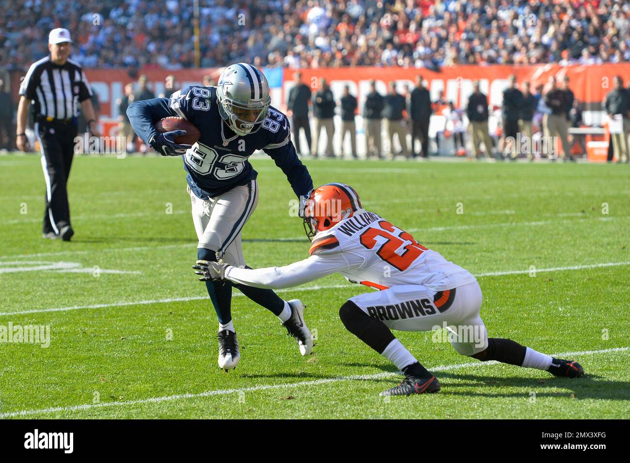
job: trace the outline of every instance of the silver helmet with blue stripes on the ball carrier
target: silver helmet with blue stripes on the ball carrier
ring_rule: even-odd
[[[253,134],[268,115],[272,98],[262,72],[246,63],[232,64],[219,76],[219,114],[237,135]]]

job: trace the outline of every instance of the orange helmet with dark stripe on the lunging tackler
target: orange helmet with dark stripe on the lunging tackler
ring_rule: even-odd
[[[304,203],[304,231],[312,241],[321,231],[363,209],[357,191],[345,183],[326,183],[309,193]]]

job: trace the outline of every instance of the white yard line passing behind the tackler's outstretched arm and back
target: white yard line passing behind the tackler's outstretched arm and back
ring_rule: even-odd
[[[600,267],[612,267],[619,265],[630,265],[630,261],[626,262],[605,262],[598,264],[588,264],[588,265],[573,265],[567,267],[553,267],[553,268],[536,268],[536,273],[539,272],[563,272],[564,270],[583,270],[586,268],[600,268]],[[530,273],[532,270],[508,270],[507,272],[488,272],[488,273],[477,273],[474,275],[475,277],[501,277],[503,275],[519,275]],[[297,288],[287,288],[287,289],[279,289],[276,292],[291,292],[291,291],[311,291],[311,290],[320,290],[320,289],[338,289],[338,288],[355,288],[355,285],[322,285],[322,286],[306,286],[306,287],[297,287]],[[242,296],[242,293],[235,293],[234,296]],[[50,309],[32,309],[29,311],[19,311],[19,312],[1,312],[0,316],[11,316],[11,315],[23,315],[23,314],[37,314],[41,312],[66,312],[66,311],[76,311],[81,309],[103,309],[106,307],[124,307],[124,306],[142,306],[147,304],[168,304],[169,302],[186,302],[188,300],[202,300],[208,299],[207,296],[193,296],[193,297],[169,297],[166,299],[149,299],[149,300],[136,300],[130,302],[112,302],[108,304],[91,304],[89,306],[71,306],[71,307],[55,307]]]

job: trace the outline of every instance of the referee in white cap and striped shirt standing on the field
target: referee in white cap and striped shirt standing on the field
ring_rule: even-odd
[[[67,29],[50,31],[50,55],[34,62],[20,86],[18,129],[16,144],[21,151],[29,151],[26,139],[26,116],[32,105],[35,117],[35,136],[42,151],[43,176],[46,181],[46,210],[43,234],[47,239],[70,241],[74,231],[70,224],[70,209],[66,190],[74,137],[77,136],[77,102],[88,121],[90,133],[100,137],[89,100],[92,91],[81,66],[68,59],[72,40]]]

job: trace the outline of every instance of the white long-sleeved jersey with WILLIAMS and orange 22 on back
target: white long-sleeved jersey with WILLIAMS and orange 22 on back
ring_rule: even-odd
[[[309,258],[284,267],[230,267],[226,278],[260,288],[288,288],[339,272],[350,282],[377,289],[423,285],[435,292],[476,281],[464,268],[364,209],[319,232],[309,254]]]

